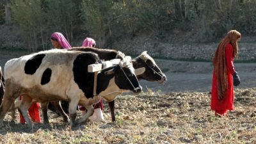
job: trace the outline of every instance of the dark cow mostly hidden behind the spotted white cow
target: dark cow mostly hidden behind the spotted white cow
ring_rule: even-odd
[[[84,51],[84,52],[95,52],[99,55],[99,58],[101,60],[113,60],[114,58],[120,58],[120,54],[118,51],[115,51],[113,49],[95,49],[92,47],[74,47],[72,49],[68,49],[68,51]],[[138,79],[145,79],[147,81],[158,81],[159,83],[164,83],[167,81],[167,78],[165,74],[161,71],[161,69],[157,66],[154,59],[147,54],[147,51],[141,52],[140,56],[134,58],[132,60],[132,65],[135,69],[138,68],[145,68],[145,72],[137,75]],[[111,95],[106,99],[109,104],[109,109],[111,111],[111,118],[112,121],[115,121],[115,97],[120,93],[115,93],[115,95]],[[56,109],[59,109],[60,111],[60,105],[58,103],[53,104]],[[44,106],[42,106],[44,107]],[[68,106],[64,106],[63,109],[67,109]],[[47,109],[47,108],[42,108]],[[61,111],[60,111],[61,112]],[[63,116],[64,114],[61,114]],[[47,118],[47,112],[43,111],[44,121],[48,122]],[[64,115],[64,120],[65,118]]]

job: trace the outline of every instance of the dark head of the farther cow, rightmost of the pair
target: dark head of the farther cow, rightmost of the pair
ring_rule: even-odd
[[[132,65],[135,69],[145,68],[145,72],[137,76],[138,79],[158,81],[159,83],[164,83],[167,81],[167,77],[156,65],[154,59],[147,54],[147,51],[142,52],[140,56],[134,58],[132,60]]]

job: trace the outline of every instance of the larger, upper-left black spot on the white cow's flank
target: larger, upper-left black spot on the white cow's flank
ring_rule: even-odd
[[[30,58],[25,65],[25,74],[35,74],[38,67],[40,67],[45,54],[37,54]]]

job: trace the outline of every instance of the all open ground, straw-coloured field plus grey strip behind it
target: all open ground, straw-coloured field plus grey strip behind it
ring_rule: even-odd
[[[52,112],[49,125],[35,124],[33,130],[19,124],[16,113],[15,124],[5,116],[1,143],[256,143],[256,63],[235,63],[241,78],[235,111],[219,118],[210,110],[211,63],[156,62],[168,83],[141,81],[143,93],[120,95],[116,122],[111,122],[107,104],[105,122],[88,122],[73,131]]]

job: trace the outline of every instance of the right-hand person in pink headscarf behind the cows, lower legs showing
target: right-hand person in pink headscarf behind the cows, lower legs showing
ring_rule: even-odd
[[[96,45],[95,40],[93,40],[92,38],[85,38],[82,44],[82,47],[95,47],[95,45]],[[100,102],[95,104],[93,107],[94,107],[94,113],[92,116],[89,117],[89,119],[92,120],[93,122],[99,122],[101,120],[104,120],[104,116],[102,113],[102,110],[103,110],[102,99],[100,99]],[[79,109],[82,111],[82,113],[84,113],[84,111],[86,110],[83,106],[80,106]]]

